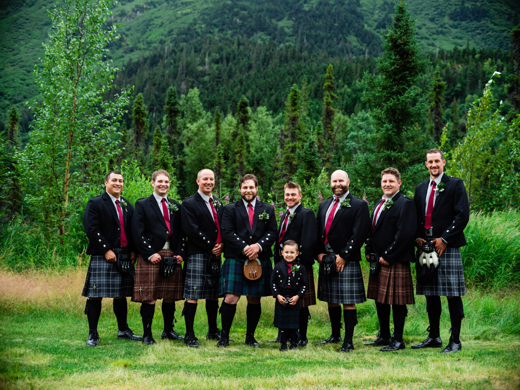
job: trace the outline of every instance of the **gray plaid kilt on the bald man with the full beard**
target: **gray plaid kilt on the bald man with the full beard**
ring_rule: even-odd
[[[323,275],[320,265],[318,299],[328,303],[354,304],[367,300],[359,262],[345,264],[343,271]]]

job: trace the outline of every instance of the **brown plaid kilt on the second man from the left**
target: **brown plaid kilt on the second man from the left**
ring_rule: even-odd
[[[170,249],[161,249],[158,252],[161,256],[173,256]],[[141,289],[142,290],[139,290]],[[152,264],[147,259],[139,255],[135,265],[135,284],[132,294],[133,302],[153,301],[160,299],[170,299],[175,301],[183,300],[184,280],[183,267],[177,264],[172,276],[166,278],[159,275],[159,263]]]

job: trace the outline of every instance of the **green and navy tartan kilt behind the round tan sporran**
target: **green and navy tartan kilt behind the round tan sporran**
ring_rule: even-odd
[[[244,276],[244,262],[227,257],[220,272],[218,293],[224,296],[232,293],[245,296],[272,296],[269,286],[272,263],[269,257],[260,258],[262,276],[257,280],[248,280]]]

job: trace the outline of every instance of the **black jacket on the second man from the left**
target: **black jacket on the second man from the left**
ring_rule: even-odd
[[[170,239],[170,249],[174,255],[182,256],[186,259],[186,236],[180,225],[181,205],[179,202],[167,198],[179,209],[170,212],[170,227],[172,229]],[[148,198],[139,199],[135,202],[134,217],[132,219],[132,234],[135,237],[137,252],[147,259],[154,253],[159,253],[163,249],[168,239],[168,228],[164,222],[162,210],[159,208],[153,194]]]

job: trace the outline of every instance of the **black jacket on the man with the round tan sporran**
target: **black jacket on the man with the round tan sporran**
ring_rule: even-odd
[[[264,212],[269,215],[269,218],[259,219],[258,216]],[[224,207],[220,231],[226,244],[224,257],[245,261],[248,258],[242,253],[245,246],[258,243],[262,246],[262,252],[258,253],[258,257],[270,258],[272,257],[271,246],[278,237],[275,208],[256,200],[253,229],[251,229],[248,211],[245,210],[242,199],[239,199]]]

